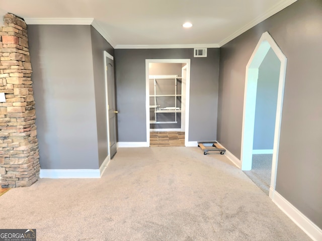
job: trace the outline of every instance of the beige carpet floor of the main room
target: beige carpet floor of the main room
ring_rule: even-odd
[[[225,155],[118,150],[101,179],[41,179],[0,197],[1,228],[37,240],[310,240]]]

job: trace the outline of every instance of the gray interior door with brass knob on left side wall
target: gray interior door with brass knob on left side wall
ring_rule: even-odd
[[[116,113],[115,109],[115,81],[114,81],[114,61],[106,57],[107,71],[107,92],[108,92],[108,111],[109,111],[109,145],[110,157],[116,153]]]

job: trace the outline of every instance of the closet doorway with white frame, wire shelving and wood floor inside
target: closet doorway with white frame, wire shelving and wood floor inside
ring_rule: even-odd
[[[146,59],[148,146],[187,146],[190,59]]]

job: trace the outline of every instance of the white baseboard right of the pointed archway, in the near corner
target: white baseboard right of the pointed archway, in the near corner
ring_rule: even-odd
[[[322,230],[276,191],[273,202],[312,240],[322,240]]]

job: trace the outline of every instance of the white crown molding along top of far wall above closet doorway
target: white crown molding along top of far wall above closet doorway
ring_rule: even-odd
[[[194,49],[194,48],[219,48],[218,44],[164,44],[164,45],[122,45],[115,49]]]

